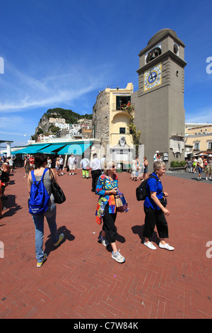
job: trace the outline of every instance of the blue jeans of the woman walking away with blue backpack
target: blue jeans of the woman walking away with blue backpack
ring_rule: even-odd
[[[35,223],[35,253],[37,262],[42,262],[44,258],[43,235],[44,235],[44,217],[47,218],[49,230],[51,232],[53,243],[57,243],[59,236],[57,234],[56,224],[56,205],[51,205],[43,215],[32,215]]]

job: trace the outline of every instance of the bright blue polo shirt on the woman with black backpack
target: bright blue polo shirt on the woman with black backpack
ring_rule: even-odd
[[[158,176],[153,172],[152,174],[153,176],[155,176],[156,179],[158,179]],[[155,178],[149,178],[146,184],[146,191],[147,191],[147,197],[143,203],[143,205],[145,205],[146,208],[153,208],[155,209],[160,209],[158,207],[158,205],[156,205],[153,201],[153,199],[151,199],[151,192],[156,192],[156,196],[157,198],[163,199],[163,185],[160,181],[160,179],[158,179],[158,184]]]

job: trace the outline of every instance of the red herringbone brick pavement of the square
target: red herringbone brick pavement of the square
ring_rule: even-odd
[[[138,182],[119,176],[119,189],[129,201],[129,212],[117,216],[117,244],[124,264],[112,260],[110,249],[98,243],[101,227],[95,222],[98,196],[91,179],[65,174],[59,184],[66,202],[57,207],[57,226],[65,241],[52,247],[45,224],[46,263],[36,267],[35,230],[27,207],[23,169],[11,175],[5,201],[9,210],[0,220],[1,318],[211,318],[212,182],[165,175],[170,196],[168,217],[174,252],[143,246],[143,203],[136,201]],[[208,250],[208,257],[206,251]]]

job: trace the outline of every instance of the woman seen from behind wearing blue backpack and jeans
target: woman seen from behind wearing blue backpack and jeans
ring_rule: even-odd
[[[56,204],[52,194],[52,174],[57,179],[54,169],[49,174],[47,167],[47,156],[38,153],[35,155],[36,169],[30,171],[28,176],[29,213],[32,214],[35,223],[35,253],[37,267],[41,267],[47,259],[43,251],[44,218],[47,219],[54,247],[58,247],[64,239],[64,234],[58,235],[56,223]]]

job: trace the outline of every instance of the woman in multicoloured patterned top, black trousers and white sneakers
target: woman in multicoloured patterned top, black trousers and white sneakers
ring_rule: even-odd
[[[116,169],[114,163],[110,163],[107,165],[105,173],[98,179],[95,193],[98,194],[100,198],[98,199],[98,206],[95,215],[96,222],[98,222],[98,224],[101,224],[103,220],[102,235],[100,237],[102,244],[105,245],[105,247],[111,244],[112,259],[121,263],[125,261],[125,258],[119,253],[119,251],[117,251],[116,227],[114,225],[117,218],[114,195],[117,194],[118,188],[118,177],[117,174],[115,174],[115,171]],[[101,218],[100,206],[102,203],[105,208],[105,213]]]

